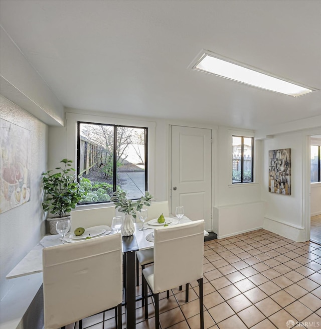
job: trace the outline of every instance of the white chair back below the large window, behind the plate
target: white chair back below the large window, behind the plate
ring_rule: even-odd
[[[112,218],[115,216],[115,207],[101,207],[70,212],[70,231],[74,232],[77,227],[88,228],[97,225],[111,227]]]

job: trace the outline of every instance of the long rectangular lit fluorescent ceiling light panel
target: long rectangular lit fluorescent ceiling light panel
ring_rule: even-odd
[[[212,73],[223,78],[246,83],[262,89],[275,91],[293,97],[308,94],[314,89],[304,88],[291,82],[275,78],[258,72],[256,69],[245,67],[244,64],[235,64],[231,60],[211,52],[202,52],[192,69]]]

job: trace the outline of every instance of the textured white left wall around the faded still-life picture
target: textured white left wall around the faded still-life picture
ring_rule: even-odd
[[[41,174],[47,169],[47,125],[0,96],[0,117],[31,131],[31,198],[26,204],[0,215],[1,299],[14,285],[6,275],[45,234]]]

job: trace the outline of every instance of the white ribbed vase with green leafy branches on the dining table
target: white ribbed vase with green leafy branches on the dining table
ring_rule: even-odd
[[[114,193],[114,196],[111,197],[110,201],[114,203],[116,209],[119,208],[119,212],[125,214],[125,220],[120,229],[123,236],[133,235],[135,226],[131,217],[136,219],[137,211],[139,212],[143,206],[149,207],[151,204],[151,199],[152,195],[148,191],[145,191],[145,195],[137,201],[126,199],[125,192],[118,191]]]

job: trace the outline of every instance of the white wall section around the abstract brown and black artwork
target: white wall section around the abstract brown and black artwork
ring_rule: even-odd
[[[307,133],[297,131],[274,136],[263,142],[262,198],[267,208],[264,228],[294,241],[308,239],[307,185],[308,143]],[[268,151],[291,148],[291,195],[268,192]],[[308,181],[309,182],[309,181]]]

